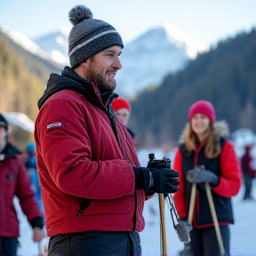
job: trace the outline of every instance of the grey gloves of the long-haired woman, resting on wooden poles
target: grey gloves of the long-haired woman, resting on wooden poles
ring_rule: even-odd
[[[189,170],[186,177],[190,183],[208,182],[212,186],[217,186],[220,182],[220,178],[216,174],[200,168]]]

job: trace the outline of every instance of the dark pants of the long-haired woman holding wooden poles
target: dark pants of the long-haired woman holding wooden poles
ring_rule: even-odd
[[[224,245],[225,256],[228,256],[230,255],[229,228],[228,226],[219,227]],[[220,246],[218,244],[214,227],[193,228],[193,230],[190,231],[190,238],[191,242],[189,243],[189,245],[191,250],[191,256],[220,256]]]

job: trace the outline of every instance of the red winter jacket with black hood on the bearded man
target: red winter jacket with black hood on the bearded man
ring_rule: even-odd
[[[108,100],[68,67],[50,76],[39,100],[35,139],[48,236],[144,228],[145,193],[134,193],[132,168],[140,163],[131,135],[104,107]]]

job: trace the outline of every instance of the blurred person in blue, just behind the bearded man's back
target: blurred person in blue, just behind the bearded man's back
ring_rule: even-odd
[[[36,164],[36,144],[35,142],[28,143],[26,147],[26,153],[28,154],[28,160],[25,163],[25,166],[27,168],[31,186],[35,192],[35,199],[39,206],[40,211],[43,213],[43,203],[42,203],[42,197],[41,197],[41,188],[39,184],[39,175],[37,171],[37,164]]]

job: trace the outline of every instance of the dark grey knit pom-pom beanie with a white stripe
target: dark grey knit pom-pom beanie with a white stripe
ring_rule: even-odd
[[[69,12],[74,25],[68,36],[68,56],[71,68],[76,68],[93,55],[111,46],[124,48],[116,29],[102,20],[92,19],[92,12],[84,5],[76,5]]]

